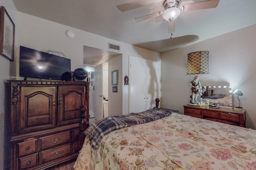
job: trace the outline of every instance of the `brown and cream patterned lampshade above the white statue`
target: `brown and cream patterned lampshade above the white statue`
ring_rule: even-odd
[[[187,74],[209,74],[209,51],[198,51],[188,54]]]

